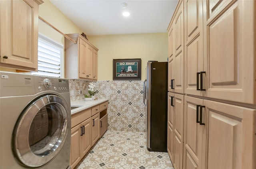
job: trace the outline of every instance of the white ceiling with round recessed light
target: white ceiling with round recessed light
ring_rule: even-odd
[[[50,0],[86,35],[166,32],[178,0]],[[127,4],[122,8],[121,3]],[[122,16],[122,12],[130,16]]]

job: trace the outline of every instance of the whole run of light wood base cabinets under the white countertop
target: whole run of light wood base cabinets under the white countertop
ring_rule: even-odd
[[[78,162],[108,130],[108,101],[71,115],[70,166]]]

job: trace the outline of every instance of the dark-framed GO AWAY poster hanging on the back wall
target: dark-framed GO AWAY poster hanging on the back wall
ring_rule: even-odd
[[[113,59],[113,80],[140,80],[141,59]]]

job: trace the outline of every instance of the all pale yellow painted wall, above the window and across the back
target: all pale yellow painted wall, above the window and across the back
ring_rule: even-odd
[[[78,28],[49,0],[39,6],[39,16],[63,33],[86,33]],[[64,36],[44,22],[38,22],[39,33],[64,46]],[[145,33],[131,35],[87,36],[98,51],[98,80],[113,79],[113,59],[142,59],[141,79],[146,79],[146,63],[149,60],[167,61],[168,34]]]

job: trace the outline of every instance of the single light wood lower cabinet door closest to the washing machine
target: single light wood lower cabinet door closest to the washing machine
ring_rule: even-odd
[[[77,126],[71,129],[70,166],[72,169],[81,160],[81,132],[81,124],[78,124]]]

